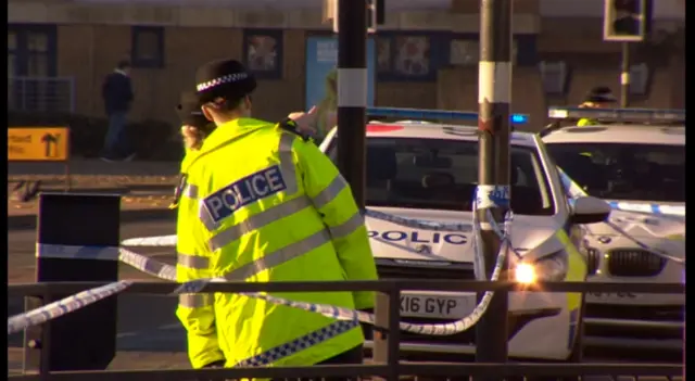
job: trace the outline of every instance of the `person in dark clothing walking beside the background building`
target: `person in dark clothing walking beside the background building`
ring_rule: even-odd
[[[130,64],[122,61],[113,73],[106,76],[101,87],[101,96],[109,117],[109,130],[101,156],[105,162],[129,161],[135,156],[126,137],[126,115],[134,98],[129,74]]]

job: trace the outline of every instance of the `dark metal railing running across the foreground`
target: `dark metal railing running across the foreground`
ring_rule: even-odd
[[[103,287],[104,282],[42,282],[33,284],[10,284],[8,296],[38,296],[45,301],[55,294],[77,292]],[[180,287],[177,283],[135,282],[122,293],[172,295]],[[241,379],[241,378],[325,378],[325,377],[381,377],[397,380],[400,376],[454,377],[578,377],[578,376],[661,376],[680,377],[683,365],[666,364],[416,364],[400,360],[399,343],[401,320],[400,296],[402,291],[455,291],[455,292],[632,292],[652,294],[684,293],[682,283],[590,283],[590,282],[539,282],[533,287],[508,281],[442,281],[442,280],[379,280],[340,282],[227,282],[207,283],[200,292],[334,292],[376,291],[378,292],[376,327],[382,334],[375,339],[376,365],[321,365],[311,367],[249,367],[225,369],[175,369],[175,370],[128,370],[128,371],[56,371],[47,368],[48,360],[41,361],[38,374],[8,376],[10,380],[191,380],[191,379]],[[42,351],[51,347],[49,331],[51,322],[43,330]],[[392,329],[396,327],[396,329]],[[45,354],[50,357],[50,353]]]

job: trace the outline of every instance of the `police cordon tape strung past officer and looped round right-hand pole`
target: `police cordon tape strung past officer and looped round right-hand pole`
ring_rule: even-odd
[[[484,268],[484,259],[482,250],[477,244],[480,239],[480,224],[477,217],[477,208],[478,205],[481,205],[481,208],[486,209],[488,217],[492,217],[490,208],[508,206],[509,205],[509,187],[508,186],[479,186],[476,189],[476,199],[473,201],[473,220],[472,231],[473,231],[473,249],[476,253],[476,277],[479,280],[485,280],[484,272],[482,269]],[[402,217],[392,216],[388,214],[378,214],[379,217],[390,220],[390,221],[401,221],[407,223],[412,221],[410,219],[403,219]],[[378,218],[375,216],[375,218]],[[492,221],[490,225],[493,228],[493,231],[498,234],[502,244],[500,246],[500,251],[496,255],[495,267],[493,269],[492,276],[490,278],[491,281],[496,281],[500,277],[500,272],[506,262],[507,252],[510,251],[510,227],[513,221],[513,214],[508,212],[505,216],[504,227],[500,228],[494,223],[494,219],[490,218]],[[418,226],[424,227],[428,226],[432,229],[442,229],[452,226],[452,224],[440,224],[435,221],[428,220],[418,220],[420,224]],[[397,223],[396,223],[397,224]],[[463,224],[454,224],[462,228]],[[119,261],[126,263],[146,274],[159,277],[161,279],[176,281],[176,267],[167,264],[163,264],[161,262],[154,261],[150,257],[143,256],[141,254],[128,251],[126,249],[119,249]],[[182,283],[178,287],[172,295],[178,294],[187,294],[187,293],[197,293],[205,287],[205,284],[212,282],[227,282],[224,278],[213,278],[213,279],[200,279],[190,282]],[[123,290],[127,289],[134,281],[131,280],[123,280],[114,283],[110,283],[100,288],[96,288],[92,290],[83,291],[75,295],[71,295],[61,301],[48,304],[46,306],[33,309],[30,312],[20,314],[13,316],[8,319],[8,334],[12,334],[15,332],[20,332],[22,330],[27,329],[28,327],[43,323],[48,320],[55,319],[65,314],[70,314],[71,312],[83,308],[89,304],[98,302],[102,299],[109,297],[111,295],[117,294]],[[305,303],[305,302],[296,302],[288,299],[281,299],[271,296],[263,293],[240,293],[242,295],[260,299],[267,301],[269,303],[285,305],[288,307],[304,309],[312,313],[321,314],[326,317],[334,318],[343,321],[353,321],[353,322],[365,322],[369,325],[375,325],[375,315],[364,313],[361,310],[338,307],[327,304],[314,304],[314,303]],[[490,305],[490,301],[494,295],[493,291],[488,291],[483,294],[482,299],[478,303],[478,305],[473,308],[473,310],[463,319],[459,319],[454,322],[448,323],[439,323],[439,325],[416,325],[408,322],[400,322],[400,329],[403,331],[418,333],[418,334],[427,334],[427,335],[451,335],[456,334],[463,331],[466,331],[473,327],[482,317],[484,312],[488,309]],[[255,364],[255,363],[253,363]]]

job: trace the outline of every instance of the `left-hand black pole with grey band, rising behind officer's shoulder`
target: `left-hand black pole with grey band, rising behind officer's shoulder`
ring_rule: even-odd
[[[365,206],[367,7],[338,0],[338,168]]]

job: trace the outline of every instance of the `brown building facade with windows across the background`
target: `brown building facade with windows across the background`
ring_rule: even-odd
[[[55,84],[46,87],[46,97],[68,98],[62,102],[70,102],[71,112],[101,115],[103,77],[129,60],[136,91],[130,117],[175,122],[174,106],[180,91],[193,89],[195,67],[231,56],[260,78],[254,98],[260,117],[278,119],[308,109],[306,41],[331,35],[320,2],[248,3],[10,0],[8,75],[55,78],[46,79]],[[678,36],[684,4],[656,3],[654,38],[632,49],[632,105],[683,107],[684,45]],[[529,113],[540,128],[547,105],[579,103],[597,85],[618,92],[620,43],[602,40],[603,1],[516,0],[514,5],[514,112]],[[388,0],[387,25],[376,35],[375,103],[477,110],[478,30],[479,0]],[[27,92],[17,90],[27,85],[20,79],[10,81],[9,103],[28,107]],[[65,94],[61,86],[72,90]]]

